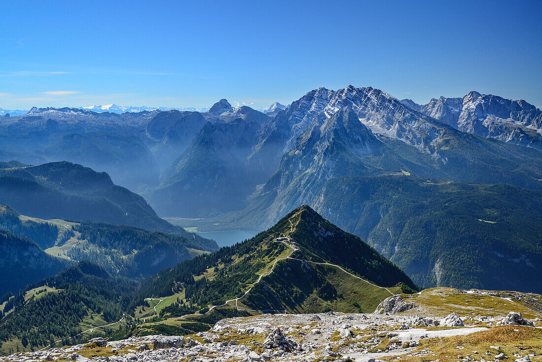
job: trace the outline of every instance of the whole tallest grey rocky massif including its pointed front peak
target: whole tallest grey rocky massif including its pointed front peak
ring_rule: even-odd
[[[348,111],[340,113],[342,126],[339,126],[338,119],[332,121],[331,119],[344,107]],[[225,117],[230,112],[225,112],[220,117]],[[235,111],[231,112],[233,113]],[[235,129],[236,126],[230,127]],[[221,144],[223,140],[229,140],[228,129],[228,126],[217,128],[216,134],[209,138],[208,145]],[[271,122],[262,124],[256,131],[253,128],[251,130],[249,135],[244,135],[250,139],[250,150],[246,148],[243,151],[243,155],[247,155],[240,158],[244,160],[243,162],[235,162],[238,170],[236,173],[247,175],[256,170],[255,173],[262,177],[257,177],[259,181],[252,177],[249,178],[252,180],[250,182],[238,183],[239,187],[245,189],[236,195],[242,195],[243,200],[251,195],[250,201],[256,200],[259,209],[264,205],[265,207],[275,205],[276,208],[273,207],[271,213],[273,220],[294,206],[290,203],[292,197],[299,202],[309,204],[315,202],[311,195],[317,195],[319,187],[326,180],[338,175],[405,172],[456,181],[513,183],[522,187],[541,187],[538,179],[533,176],[542,172],[542,164],[537,153],[458,131],[371,87],[349,86],[338,91],[326,88],[313,90],[294,101]],[[370,135],[367,133],[368,130]],[[350,138],[352,135],[365,137],[370,142],[364,144],[360,141],[361,138],[357,140]],[[377,144],[382,145],[376,147]],[[224,154],[231,153],[235,150],[235,142],[229,142],[221,147]],[[216,189],[227,190],[231,185],[227,179],[217,177],[214,170],[220,168],[216,167],[214,160],[207,157],[199,158],[198,162],[188,162],[189,159],[195,160],[198,154],[191,151],[191,155],[183,155],[187,167],[177,168],[175,172],[171,172],[173,169],[171,168],[169,173],[164,173],[161,188],[169,187],[166,184],[182,179],[183,173],[191,174],[193,168],[198,168],[200,167],[198,165],[202,164],[206,172],[213,170],[211,179],[214,180],[212,184],[216,185]],[[220,157],[222,155],[218,156],[219,160]],[[520,164],[526,162],[530,164],[532,175],[520,170]],[[227,162],[220,164],[224,167],[228,165]],[[194,166],[188,167],[189,165]],[[177,176],[168,180],[173,173]],[[203,173],[203,169],[200,173]],[[298,178],[300,175],[307,178]],[[272,177],[266,179],[263,176]],[[266,183],[263,188],[256,188],[263,183]],[[282,194],[288,189],[291,195]],[[206,194],[206,197],[210,195],[212,193]],[[175,198],[176,192],[171,192],[164,195],[162,200],[171,203],[175,201],[168,200]],[[208,199],[206,202],[211,200]],[[220,205],[218,199],[212,202],[216,206]],[[160,202],[156,200],[153,200],[152,204],[160,207]],[[229,209],[231,210],[232,208]],[[228,211],[228,208],[222,211]]]

